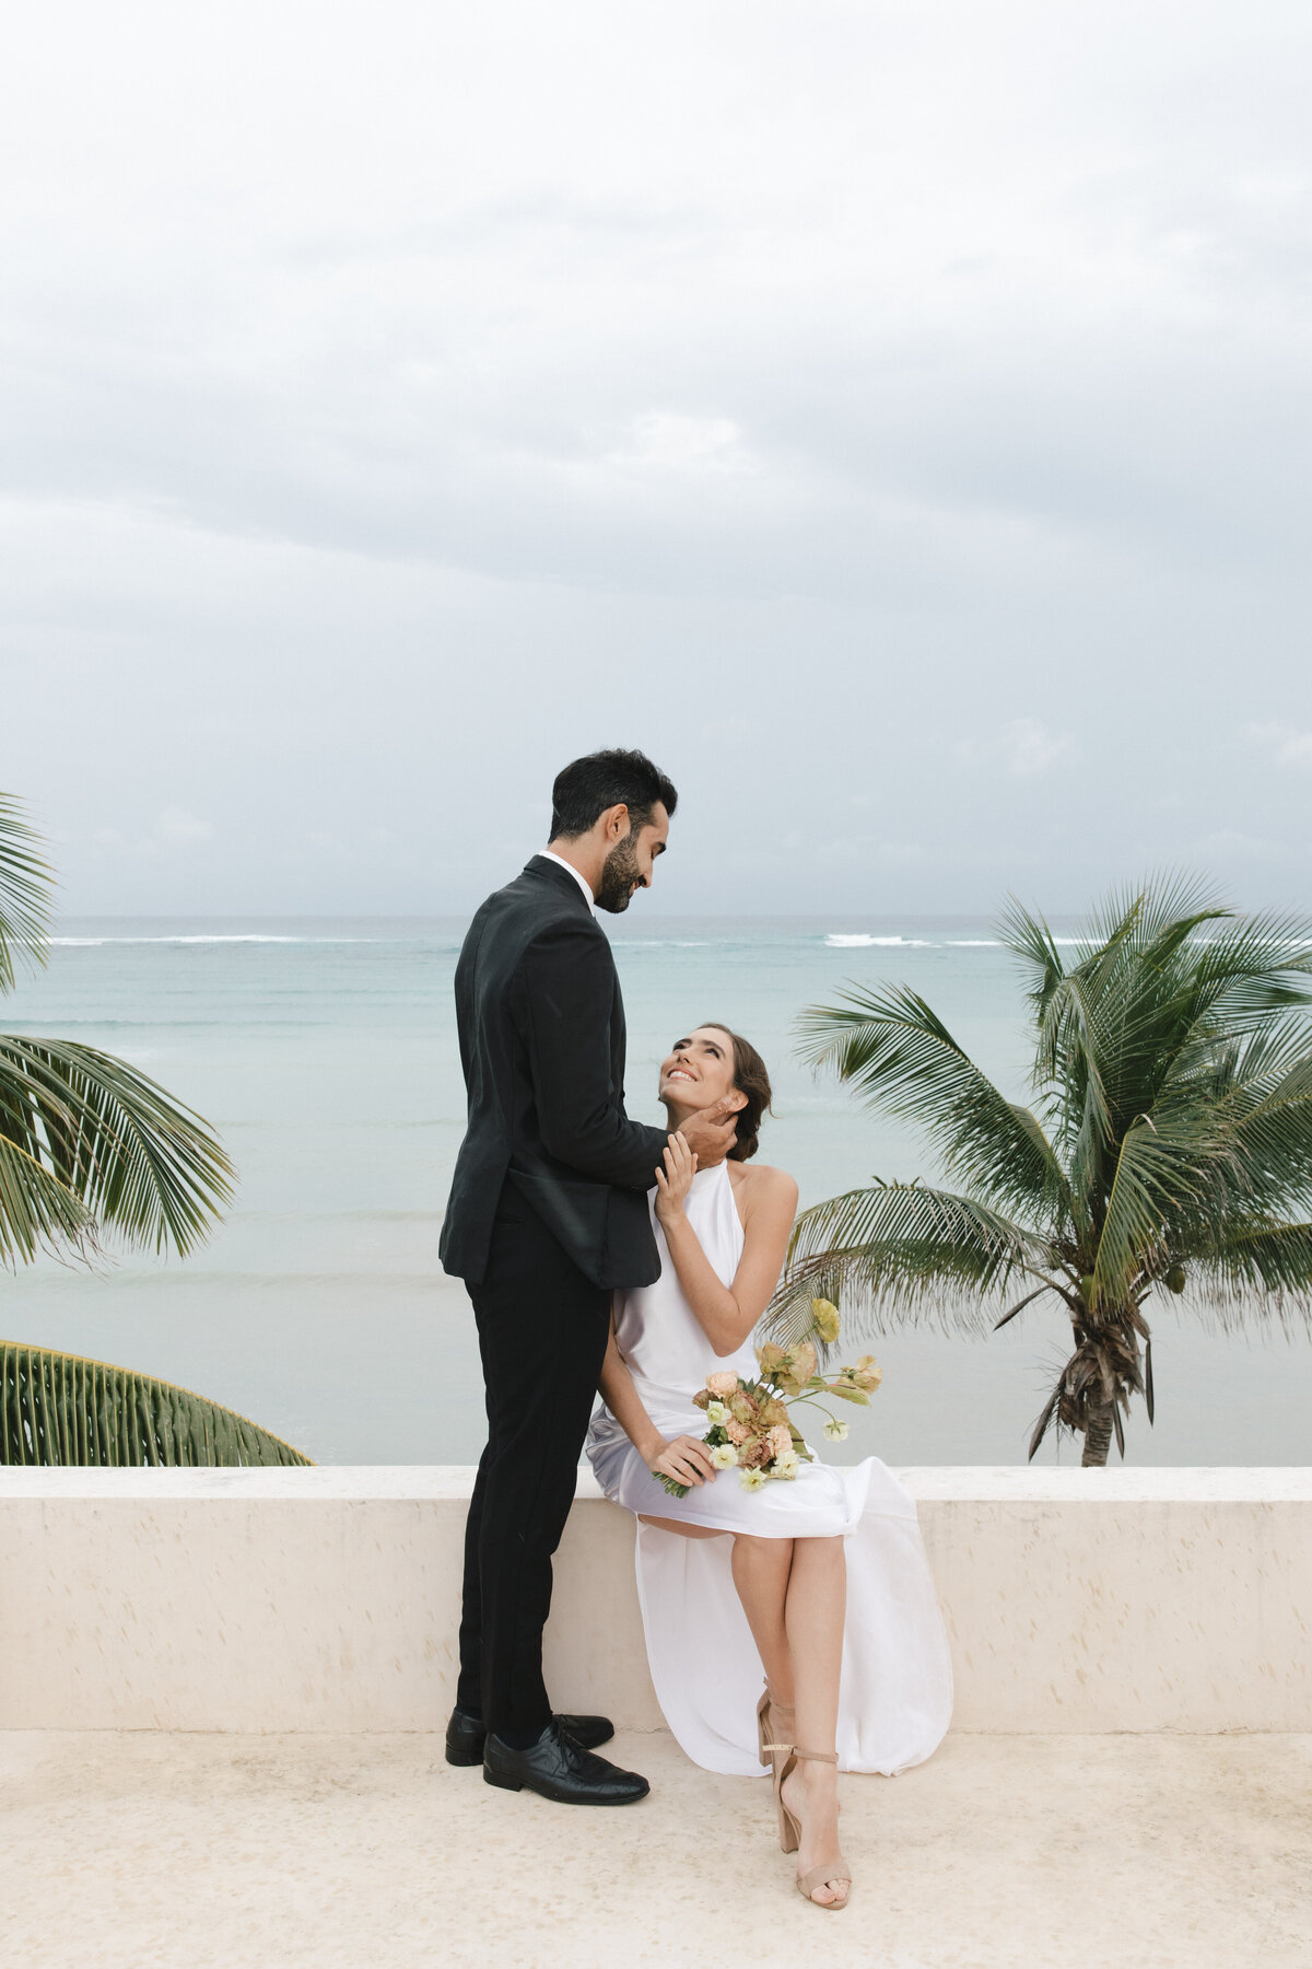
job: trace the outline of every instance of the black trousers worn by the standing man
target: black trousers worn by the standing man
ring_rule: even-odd
[[[464,1530],[456,1701],[494,1735],[537,1731],[551,1721],[543,1683],[551,1554],[574,1502],[610,1292],[578,1270],[507,1183],[486,1276],[468,1296],[488,1390],[488,1447]]]

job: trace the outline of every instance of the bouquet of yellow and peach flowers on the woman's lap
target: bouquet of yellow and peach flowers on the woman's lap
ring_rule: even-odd
[[[828,1300],[810,1302],[810,1331],[824,1345],[838,1339],[838,1307]],[[812,1404],[824,1408],[824,1398],[869,1404],[871,1392],[883,1380],[873,1355],[862,1355],[856,1366],[840,1366],[836,1374],[816,1372],[812,1341],[795,1347],[757,1347],[759,1378],[742,1374],[708,1374],[706,1386],[692,1396],[710,1428],[702,1441],[718,1471],[738,1471],[744,1491],[759,1491],[771,1477],[785,1483],[797,1477],[803,1463],[812,1463],[803,1431],[795,1428],[789,1410]],[[848,1424],[824,1410],[824,1433],[840,1443]],[[686,1496],[688,1485],[677,1477],[661,1477],[671,1496]]]

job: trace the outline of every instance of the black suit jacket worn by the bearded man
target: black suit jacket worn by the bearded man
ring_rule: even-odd
[[[663,1128],[624,1112],[624,1000],[610,941],[565,868],[533,857],[488,896],[456,965],[468,1130],[443,1266],[480,1284],[506,1179],[596,1286],[661,1266],[647,1189]]]

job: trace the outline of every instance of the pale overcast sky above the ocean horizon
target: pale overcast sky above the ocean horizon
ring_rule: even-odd
[[[69,914],[1312,906],[1298,0],[43,0],[0,786]]]

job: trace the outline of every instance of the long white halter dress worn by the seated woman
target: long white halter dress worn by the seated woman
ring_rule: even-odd
[[[655,1189],[651,1191],[655,1203]],[[744,1231],[728,1168],[698,1170],[686,1215],[716,1276],[738,1270]],[[616,1296],[616,1337],[643,1408],[663,1435],[704,1435],[692,1406],[706,1374],[757,1374],[751,1343],[718,1359],[679,1288],[661,1225],[661,1276]],[[879,1396],[875,1396],[875,1404]],[[799,1422],[808,1410],[797,1410]],[[810,1414],[816,1414],[810,1410]],[[865,1410],[850,1410],[856,1426]],[[671,1496],[606,1406],[588,1429],[588,1461],[614,1502],[635,1516],[683,1518],[757,1538],[846,1540],[848,1620],[838,1762],[897,1772],[938,1747],[952,1713],[952,1666],[915,1502],[875,1457],[840,1469],[803,1463],[797,1481],[744,1491],[738,1471]],[[761,1776],[755,1705],[761,1660],[730,1571],[730,1538],[681,1538],[637,1526],[637,1595],[657,1699],[688,1756],[706,1770]]]

